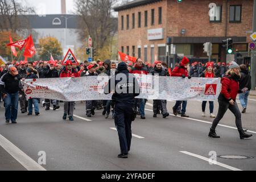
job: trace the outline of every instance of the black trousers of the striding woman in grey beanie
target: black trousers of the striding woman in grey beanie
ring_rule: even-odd
[[[228,101],[218,100],[218,105],[219,105],[218,106],[218,114],[212,123],[212,129],[214,129],[214,130],[216,129],[218,122],[220,122],[220,120],[224,117],[224,114],[226,113],[226,111],[229,109],[230,111],[232,111],[232,113],[236,117],[237,129],[243,130],[241,112],[238,108],[237,102],[235,102],[234,105],[231,105],[231,104],[229,104]]]

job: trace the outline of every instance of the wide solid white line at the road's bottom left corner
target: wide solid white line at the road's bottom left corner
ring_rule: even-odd
[[[16,159],[28,171],[46,171],[35,160],[31,159],[13,143],[0,134],[0,146],[3,147],[14,159]]]

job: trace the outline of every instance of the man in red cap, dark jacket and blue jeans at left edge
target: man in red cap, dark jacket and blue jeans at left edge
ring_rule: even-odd
[[[5,121],[9,123],[16,123],[18,115],[18,103],[19,103],[19,90],[20,80],[18,70],[13,66],[10,67],[9,72],[3,75],[0,82],[0,90],[5,99]]]

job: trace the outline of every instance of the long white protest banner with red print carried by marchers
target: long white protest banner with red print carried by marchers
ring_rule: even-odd
[[[135,75],[141,86],[137,98],[148,100],[214,101],[220,94],[220,78],[181,78]],[[104,94],[108,76],[79,78],[40,78],[22,81],[27,99],[48,98],[60,101],[111,100]]]

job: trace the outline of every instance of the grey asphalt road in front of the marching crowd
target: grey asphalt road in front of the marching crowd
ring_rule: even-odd
[[[190,119],[172,115],[155,119],[151,104],[149,101],[146,105],[146,119],[138,117],[132,124],[135,135],[129,158],[119,159],[114,121],[105,119],[102,110],[96,110],[96,116],[88,119],[85,104],[77,102],[75,121],[68,122],[62,120],[63,105],[58,111],[44,111],[40,107],[40,116],[28,117],[19,111],[18,124],[6,125],[1,103],[0,170],[256,170],[255,97],[250,97],[247,113],[242,115],[243,127],[254,134],[245,140],[240,140],[238,131],[232,128],[236,125],[230,111],[220,122],[225,126],[217,127],[221,138],[212,139],[208,133],[213,119],[201,117],[201,102],[188,102]],[[174,102],[168,102],[170,113],[173,105]],[[215,114],[217,107],[216,102]],[[41,166],[37,164],[42,159],[40,151],[46,154],[46,164]],[[210,151],[217,156],[245,155],[253,159],[217,157],[217,164],[211,165]]]

